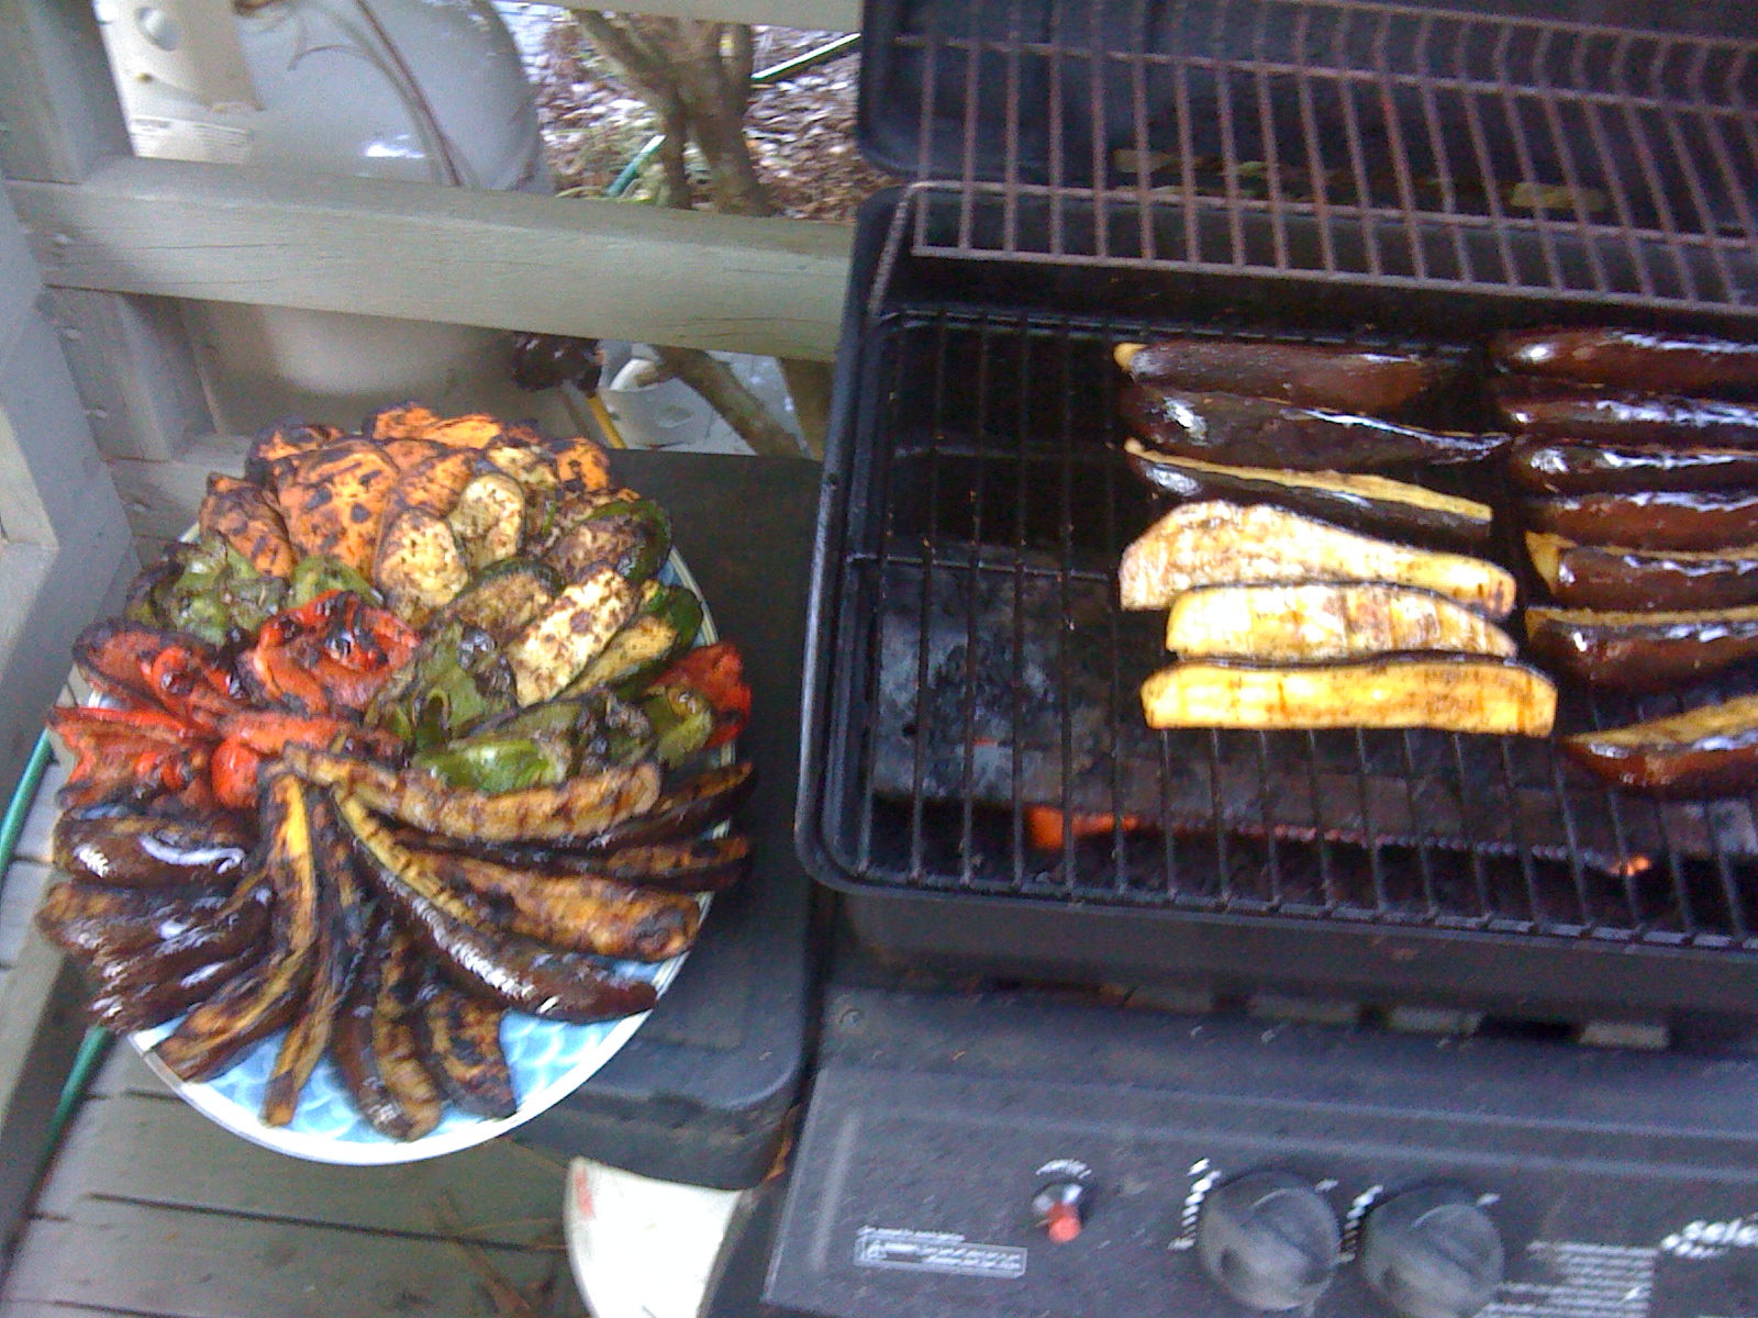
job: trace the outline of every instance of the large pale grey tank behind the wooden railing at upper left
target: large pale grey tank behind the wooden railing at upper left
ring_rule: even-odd
[[[519,49],[487,0],[98,0],[135,155],[550,192]],[[508,380],[510,336],[188,302],[214,424],[353,422],[390,401],[573,427]]]

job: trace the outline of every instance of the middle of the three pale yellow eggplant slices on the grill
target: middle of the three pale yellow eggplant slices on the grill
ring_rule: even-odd
[[[1387,650],[1512,657],[1514,638],[1463,605],[1403,585],[1206,585],[1173,599],[1166,648],[1185,659],[1336,663]]]

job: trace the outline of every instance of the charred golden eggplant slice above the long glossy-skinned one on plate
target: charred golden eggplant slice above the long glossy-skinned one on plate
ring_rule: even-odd
[[[696,940],[701,907],[677,893],[631,887],[594,875],[545,875],[478,856],[431,851],[422,835],[397,829],[406,863],[429,882],[462,893],[483,924],[573,952],[624,961],[665,961]]]

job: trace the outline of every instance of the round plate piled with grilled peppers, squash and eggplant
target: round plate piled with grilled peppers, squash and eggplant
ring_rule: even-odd
[[[404,1162],[534,1116],[749,866],[738,654],[585,439],[271,427],[74,661],[37,923],[95,1023],[271,1148]]]

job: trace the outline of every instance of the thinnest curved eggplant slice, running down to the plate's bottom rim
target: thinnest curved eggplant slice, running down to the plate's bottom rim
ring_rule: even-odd
[[[262,1095],[262,1121],[285,1126],[299,1111],[299,1095],[331,1042],[336,1014],[366,945],[366,894],[355,873],[353,847],[327,794],[306,794],[316,863],[318,914],[311,989],[281,1040]]]

